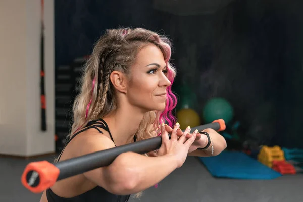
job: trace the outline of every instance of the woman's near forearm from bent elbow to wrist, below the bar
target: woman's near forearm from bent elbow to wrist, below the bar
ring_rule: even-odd
[[[110,176],[108,182],[117,194],[134,194],[167,177],[178,167],[176,162],[172,156],[147,157],[123,153],[109,166],[103,177]]]

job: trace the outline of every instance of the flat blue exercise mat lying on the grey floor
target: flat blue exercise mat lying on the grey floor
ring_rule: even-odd
[[[214,157],[199,157],[214,177],[234,179],[274,179],[282,176],[240,151],[223,151]]]

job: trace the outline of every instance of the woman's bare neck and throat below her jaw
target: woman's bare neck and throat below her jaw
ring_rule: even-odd
[[[125,104],[103,119],[110,128],[115,144],[121,146],[133,141],[143,116],[142,110]]]

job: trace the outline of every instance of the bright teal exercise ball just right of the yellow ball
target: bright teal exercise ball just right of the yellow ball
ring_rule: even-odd
[[[211,123],[217,119],[223,119],[227,124],[232,120],[232,118],[233,108],[224,98],[212,98],[203,108],[203,119],[206,123]]]

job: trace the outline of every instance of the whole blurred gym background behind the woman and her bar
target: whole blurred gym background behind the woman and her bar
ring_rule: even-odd
[[[141,201],[183,201],[187,194],[189,201],[299,201],[302,8],[303,2],[294,0],[45,0],[42,131],[41,1],[0,1],[0,173],[11,181],[0,183],[0,200],[38,200],[39,195],[22,187],[22,171],[30,161],[53,161],[62,150],[85,58],[106,29],[124,26],[157,31],[172,40],[172,63],[178,71],[175,115],[181,126],[224,118],[227,129],[221,134],[227,151],[241,158],[244,154],[243,162],[249,158],[232,175],[227,171],[235,162],[228,163],[226,156],[221,157],[224,162],[220,157],[189,158],[183,174],[174,172],[164,188],[147,190]],[[225,173],[212,167],[214,161]],[[170,196],[172,184],[180,185],[180,180],[194,188],[178,195],[185,185],[176,187]],[[279,185],[272,188],[275,183]]]

